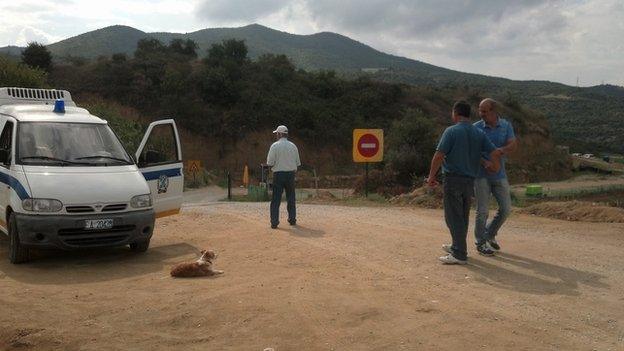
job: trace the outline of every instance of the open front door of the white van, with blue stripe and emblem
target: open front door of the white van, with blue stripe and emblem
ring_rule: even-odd
[[[149,125],[136,160],[152,193],[156,218],[180,212],[184,188],[182,149],[172,119]]]

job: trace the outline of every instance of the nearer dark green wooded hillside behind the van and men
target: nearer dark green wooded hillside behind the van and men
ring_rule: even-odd
[[[326,175],[359,172],[351,160],[352,130],[382,128],[386,157],[375,167],[388,171],[390,184],[403,186],[426,174],[436,140],[451,123],[453,102],[466,99],[476,107],[485,97],[469,88],[415,87],[368,77],[344,79],[332,71],[307,72],[285,55],[251,60],[245,43],[233,39],[213,44],[204,58],[198,57],[191,40],[165,44],[142,39],[132,56],[57,63],[48,75],[2,62],[0,71],[15,74],[0,77],[0,85],[69,90],[79,105],[111,122],[130,152],[141,136],[141,124],[174,118],[184,133],[185,158],[200,159],[208,169],[236,171],[245,164],[255,169],[265,160],[271,130],[286,124],[307,167]],[[567,158],[552,143],[543,115],[515,102],[503,112],[522,145],[509,163],[512,179],[568,175]]]

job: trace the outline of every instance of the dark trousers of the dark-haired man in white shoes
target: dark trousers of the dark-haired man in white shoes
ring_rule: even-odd
[[[444,219],[453,238],[452,255],[458,260],[468,257],[466,237],[473,190],[472,178],[447,175],[444,179]]]

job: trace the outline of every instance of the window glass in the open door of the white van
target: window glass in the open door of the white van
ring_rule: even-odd
[[[139,155],[139,166],[178,162],[178,147],[171,124],[156,125]]]

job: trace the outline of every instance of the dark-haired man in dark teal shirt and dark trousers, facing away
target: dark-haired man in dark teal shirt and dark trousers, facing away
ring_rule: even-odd
[[[440,261],[445,264],[466,264],[470,201],[474,191],[474,179],[479,175],[481,154],[485,152],[491,159],[491,168],[497,169],[500,151],[483,131],[470,123],[468,103],[456,102],[451,116],[455,125],[446,128],[440,138],[437,151],[431,160],[427,183],[431,187],[438,185],[436,174],[442,166],[444,219],[453,243],[442,246],[448,255],[440,257]]]

